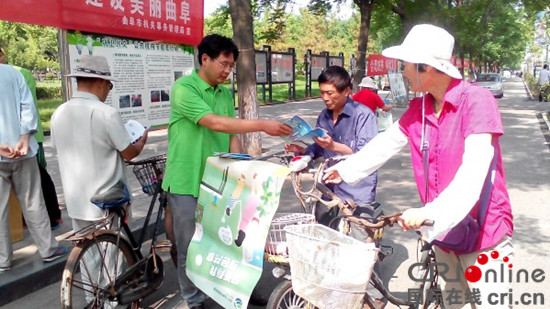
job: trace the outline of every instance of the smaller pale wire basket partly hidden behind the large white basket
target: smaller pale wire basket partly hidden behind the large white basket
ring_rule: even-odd
[[[265,252],[271,255],[288,256],[286,232],[284,228],[294,224],[315,223],[315,216],[306,213],[275,214],[265,243]]]

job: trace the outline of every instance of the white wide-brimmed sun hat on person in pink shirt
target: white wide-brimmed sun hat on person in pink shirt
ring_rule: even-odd
[[[386,48],[382,55],[410,63],[423,63],[453,77],[462,79],[451,63],[455,39],[445,29],[434,25],[414,26],[401,45]]]

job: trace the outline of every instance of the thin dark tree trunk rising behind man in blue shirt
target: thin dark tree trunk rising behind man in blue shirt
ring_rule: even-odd
[[[355,72],[350,73],[353,75],[353,89],[357,91],[357,85],[361,82],[361,79],[365,77],[367,43],[369,42],[369,28],[372,16],[372,5],[374,4],[374,0],[362,0],[356,1],[355,3],[359,6],[359,12],[361,14],[361,26],[359,27],[359,42],[357,46],[358,55],[355,65]]]

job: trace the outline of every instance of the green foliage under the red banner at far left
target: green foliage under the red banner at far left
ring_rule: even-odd
[[[0,45],[11,64],[29,70],[59,69],[56,28],[0,21]]]

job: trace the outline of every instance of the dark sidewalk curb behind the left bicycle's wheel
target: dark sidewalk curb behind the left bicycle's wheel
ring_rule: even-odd
[[[137,228],[132,229],[132,234],[135,238],[140,236],[144,222],[145,218],[134,221],[133,225]],[[153,214],[144,241],[151,239],[155,223],[156,216]],[[158,234],[164,232],[164,219],[162,219]],[[0,282],[0,307],[61,280],[72,245],[68,246],[68,249],[69,253],[57,261],[43,263],[42,260],[37,259],[4,273]]]

